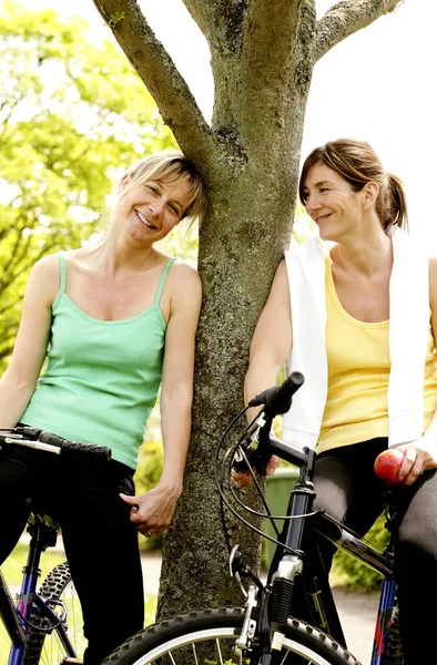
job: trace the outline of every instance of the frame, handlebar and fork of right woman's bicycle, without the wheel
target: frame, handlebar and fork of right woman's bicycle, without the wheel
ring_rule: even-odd
[[[266,585],[263,585],[256,575],[242,564],[238,546],[236,545],[232,552],[230,548],[231,574],[236,577],[247,598],[243,628],[236,649],[237,653],[243,654],[247,647],[252,647],[252,640],[255,636],[257,663],[260,665],[275,664],[282,652],[284,636],[291,628],[289,622],[296,620],[295,627],[298,628],[301,625],[303,631],[308,630],[308,634],[314,630],[322,641],[324,640],[323,633],[325,633],[331,636],[338,648],[347,651],[343,627],[328,584],[325,556],[321,551],[323,539],[327,539],[334,546],[346,551],[384,577],[370,665],[385,665],[396,594],[394,545],[398,520],[395,518],[395,513],[388,510],[390,542],[386,550],[380,552],[323,510],[314,510],[315,450],[307,447],[297,448],[291,442],[277,439],[271,431],[274,417],[289,409],[292,397],[303,385],[303,375],[292,372],[281,386],[268,388],[255,396],[228,424],[216,449],[215,478],[222,501],[244,524],[277,545]],[[236,446],[226,450],[220,462],[221,447],[232,427],[248,408],[261,405],[263,409],[248,423]],[[298,482],[291,492],[285,516],[272,515],[254,473],[256,470],[258,474],[265,475],[267,462],[274,454],[299,468]],[[218,469],[221,469],[221,474]],[[236,505],[245,509],[251,515],[270,519],[274,526],[275,520],[285,521],[281,535],[275,528],[278,540],[266,535],[253,522],[245,520],[232,501],[226,498],[224,491],[225,469],[228,471],[227,489]],[[241,501],[233,484],[233,472],[252,474],[265,512],[254,510]],[[236,480],[237,483],[238,481],[240,479]],[[393,508],[392,500],[388,501],[388,505]],[[223,514],[222,520],[224,521]],[[317,538],[314,539],[314,535]],[[227,538],[226,542],[230,545]],[[241,583],[242,573],[250,579],[248,592]],[[257,610],[252,616],[254,607]],[[301,654],[301,652],[298,653]],[[304,653],[303,651],[303,656]],[[356,662],[353,655],[349,655]]]

